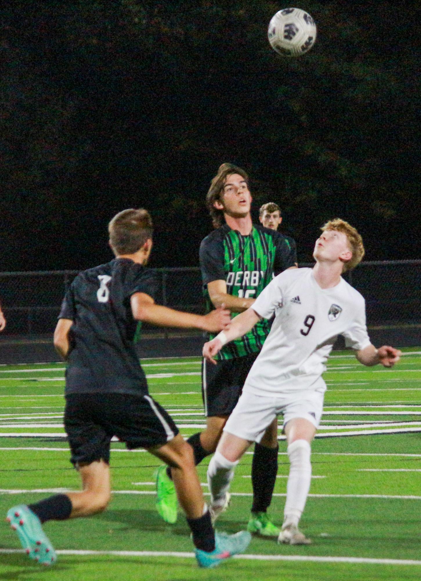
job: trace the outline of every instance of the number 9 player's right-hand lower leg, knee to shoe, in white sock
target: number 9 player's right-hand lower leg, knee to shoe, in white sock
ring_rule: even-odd
[[[291,419],[284,428],[287,437],[287,453],[290,471],[286,488],[284,521],[278,542],[288,544],[310,544],[298,530],[301,514],[311,483],[310,443],[316,433],[315,426],[304,418]]]

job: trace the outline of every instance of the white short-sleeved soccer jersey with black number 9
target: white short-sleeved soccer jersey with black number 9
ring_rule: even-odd
[[[251,308],[266,319],[275,313],[275,320],[243,391],[276,396],[320,389],[325,362],[338,335],[356,350],[370,345],[364,297],[343,278],[333,288],[320,288],[312,268],[282,272]]]

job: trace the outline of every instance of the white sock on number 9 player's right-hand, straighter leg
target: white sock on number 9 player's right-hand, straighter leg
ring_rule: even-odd
[[[298,525],[311,483],[311,447],[306,440],[296,440],[287,447],[290,461],[284,525]]]

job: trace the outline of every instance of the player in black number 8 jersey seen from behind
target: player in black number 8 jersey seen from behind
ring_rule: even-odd
[[[67,360],[64,427],[82,492],[13,507],[8,521],[30,558],[45,565],[54,562],[55,551],[41,525],[105,510],[111,494],[110,441],[117,436],[128,449],[145,448],[171,467],[197,561],[213,567],[245,550],[250,534],[214,532],[192,449],[149,396],[133,338],[137,321],[215,332],[229,322],[229,312],[221,308],[200,316],[154,304],[145,268],[152,249],[152,220],[146,210],[120,212],[111,220],[109,234],[116,258],[74,279],[54,334],[56,350]]]

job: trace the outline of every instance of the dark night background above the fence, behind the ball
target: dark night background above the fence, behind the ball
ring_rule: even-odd
[[[6,3],[0,270],[107,261],[107,222],[141,206],[151,266],[197,266],[222,162],[249,172],[255,218],[279,203],[300,261],[336,216],[366,259],[420,258],[417,4],[300,0],[318,41],[282,59],[285,3]]]

